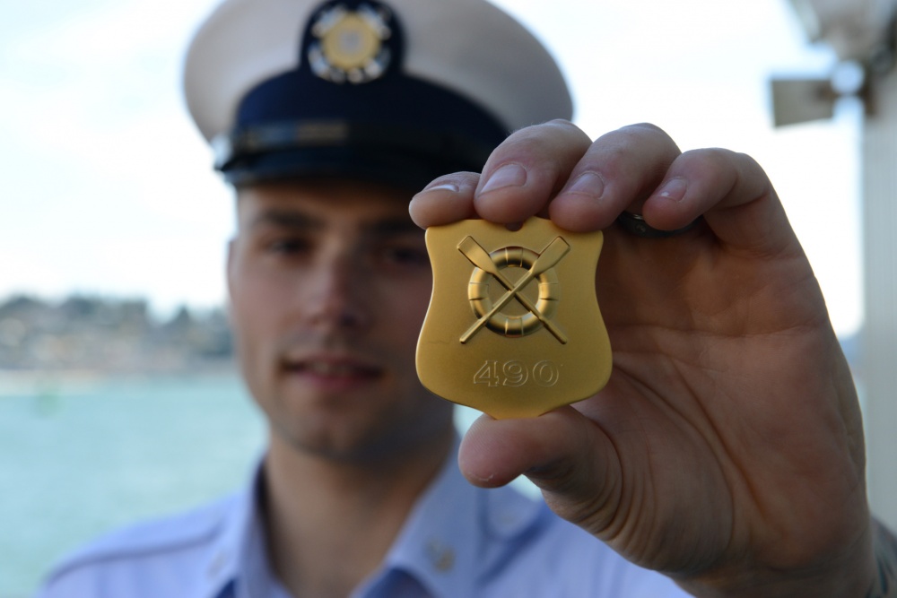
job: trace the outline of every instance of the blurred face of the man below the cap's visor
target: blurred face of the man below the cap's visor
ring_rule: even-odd
[[[432,289],[407,194],[335,180],[238,193],[228,281],[240,366],[273,445],[340,460],[443,434],[414,368]]]

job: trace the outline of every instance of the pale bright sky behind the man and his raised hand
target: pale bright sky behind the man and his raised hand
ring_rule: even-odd
[[[183,50],[215,0],[0,4],[0,299],[225,301],[231,191],[180,96]],[[597,137],[653,122],[686,149],[770,175],[840,334],[862,321],[856,102],[771,126],[773,75],[826,75],[786,0],[495,0],[562,66]],[[534,82],[537,84],[537,82]]]

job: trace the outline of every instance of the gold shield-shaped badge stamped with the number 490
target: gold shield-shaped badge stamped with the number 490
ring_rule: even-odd
[[[533,417],[605,386],[600,231],[470,220],[431,227],[426,238],[433,294],[417,342],[423,386],[494,418]]]

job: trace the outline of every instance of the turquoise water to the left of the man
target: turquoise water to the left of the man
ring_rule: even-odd
[[[0,372],[0,598],[67,551],[238,488],[264,425],[233,375],[14,378]]]

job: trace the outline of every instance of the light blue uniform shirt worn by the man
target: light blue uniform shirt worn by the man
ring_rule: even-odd
[[[48,577],[40,598],[289,598],[272,574],[250,488],[94,542]],[[359,530],[359,533],[364,533]],[[471,486],[448,459],[382,566],[353,598],[682,598],[542,501]]]

